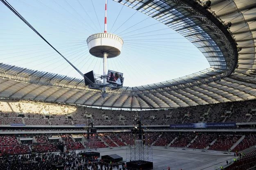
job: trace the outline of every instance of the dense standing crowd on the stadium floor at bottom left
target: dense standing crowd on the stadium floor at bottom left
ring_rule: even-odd
[[[7,155],[0,157],[0,167],[3,170],[120,170],[122,165],[104,163],[97,157],[83,157],[80,152],[61,152]]]

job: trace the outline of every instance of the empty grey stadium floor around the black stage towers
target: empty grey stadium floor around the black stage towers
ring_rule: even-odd
[[[100,156],[118,154],[124,161],[129,161],[130,151],[126,148],[102,148],[97,149],[96,152],[100,152]],[[171,170],[181,168],[182,170],[216,170],[220,165],[226,165],[227,160],[230,162],[233,159],[232,153],[224,154],[224,152],[211,150],[202,152],[202,150],[152,147],[152,152],[154,170],[166,170],[168,166]]]

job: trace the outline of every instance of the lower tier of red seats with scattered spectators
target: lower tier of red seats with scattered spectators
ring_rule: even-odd
[[[174,148],[193,148],[239,152],[256,145],[254,133],[213,133],[213,132],[146,132],[145,145]],[[54,137],[52,137],[54,136]],[[72,134],[9,134],[0,135],[2,154],[24,154],[30,152],[55,152],[57,145],[66,150],[84,150],[134,145],[138,135],[131,132],[76,133]],[[236,147],[231,147],[240,140]],[[14,152],[15,150],[15,152]]]

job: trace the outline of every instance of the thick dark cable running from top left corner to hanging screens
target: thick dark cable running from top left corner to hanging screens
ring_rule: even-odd
[[[66,59],[57,49],[55,49],[41,34],[39,34],[38,31],[36,31],[36,29],[34,29],[34,27],[32,27],[32,25],[29,24],[29,22],[27,22],[27,20],[25,20],[25,18],[23,18],[23,16],[20,15],[20,13],[18,13],[18,11],[16,11],[16,9],[14,9],[14,7],[11,6],[11,4],[9,4],[6,0],[1,0],[1,2],[3,4],[5,4],[5,6],[7,6],[16,16],[18,16],[18,18],[20,18],[29,28],[31,28],[38,36],[40,36],[48,45],[50,45],[50,47],[52,47],[52,49],[54,49],[62,58],[64,58],[81,76],[83,76],[84,78],[86,78],[87,81],[89,81],[92,85],[93,82],[91,80],[89,80],[89,78],[87,78],[86,76],[84,76],[84,74],[79,71],[79,69],[77,69],[77,67],[75,67],[72,63],[70,63],[68,61],[68,59]],[[101,94],[102,92],[100,90],[98,90]]]

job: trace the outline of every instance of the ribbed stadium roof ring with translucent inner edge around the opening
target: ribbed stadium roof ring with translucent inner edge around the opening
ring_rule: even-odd
[[[211,67],[171,81],[108,89],[108,96],[102,98],[97,90],[84,87],[82,79],[1,63],[0,97],[130,109],[256,98],[255,0],[211,0],[210,7],[206,0],[114,1],[179,32],[206,56]]]

